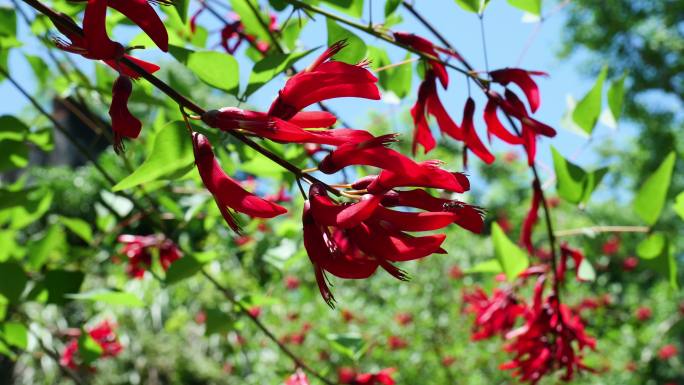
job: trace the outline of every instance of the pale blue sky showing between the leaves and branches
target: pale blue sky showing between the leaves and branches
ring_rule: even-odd
[[[544,9],[543,13],[548,14],[551,11],[550,1],[545,1],[549,9]],[[555,3],[555,2],[554,2]],[[2,1],[0,1],[2,4]],[[24,9],[28,7],[24,6]],[[383,1],[374,2],[374,17],[380,20],[383,16]],[[424,14],[424,16],[435,25],[451,43],[459,50],[459,52],[467,58],[467,60],[476,68],[484,70],[484,55],[482,48],[482,40],[480,37],[480,21],[477,15],[468,13],[459,8],[453,0],[430,0],[417,2],[416,8]],[[30,11],[30,10],[29,10]],[[281,18],[286,17],[286,14]],[[367,14],[364,15],[364,18]],[[593,84],[592,79],[587,79],[583,76],[582,62],[578,58],[572,60],[559,60],[557,52],[560,49],[561,29],[563,27],[563,12],[554,13],[552,17],[547,18],[541,25],[539,33],[531,40],[529,49],[521,58],[526,44],[530,43],[530,36],[533,34],[535,28],[538,28],[537,23],[523,22],[523,12],[511,7],[503,0],[492,1],[486,10],[484,16],[485,34],[487,41],[487,52],[490,69],[502,68],[507,66],[521,66],[527,69],[542,70],[550,74],[548,78],[538,79],[542,95],[542,105],[536,114],[536,117],[558,129],[559,135],[552,140],[544,140],[540,144],[540,167],[542,170],[548,170],[550,166],[550,152],[549,144],[566,155],[566,157],[577,156],[578,154],[586,155],[576,159],[576,162],[581,165],[592,165],[595,161],[591,157],[591,150],[587,150],[587,140],[561,127],[560,121],[563,113],[566,110],[566,96],[572,94],[575,98],[580,98]],[[200,20],[202,25],[206,25],[209,30],[215,30],[218,27],[216,21],[209,14],[203,15]],[[20,51],[29,52],[31,54],[38,54],[42,52],[42,48],[35,43],[35,39],[29,38],[25,26],[20,22],[19,39],[26,43],[24,48],[14,50],[10,57],[10,68],[14,76],[29,88],[34,87],[33,77],[30,68],[26,61],[21,57]],[[124,40],[130,38],[138,33],[137,30],[126,27],[127,31],[117,30],[117,40]],[[426,37],[432,38],[429,31],[423,28],[411,15],[405,14],[404,22],[393,28],[394,30],[403,30],[414,32]],[[404,53],[398,49],[394,49],[390,45],[375,41],[375,38],[359,32],[358,35],[366,40],[367,43],[384,47],[388,50],[393,61],[400,61]],[[318,18],[316,22],[308,23],[302,34],[302,43],[305,47],[315,47],[325,44],[326,31],[325,22],[322,18]],[[142,55],[144,58],[152,58],[156,62],[163,60],[172,60],[162,52],[152,51]],[[302,63],[311,60],[313,57],[303,59]],[[519,63],[519,60],[520,63]],[[518,64],[519,63],[519,64]],[[251,62],[248,60],[240,60],[241,77],[246,84],[249,77]],[[301,65],[300,65],[301,67]],[[276,79],[266,87],[256,92],[249,100],[249,103],[258,107],[267,108],[277,92],[284,83],[283,78]],[[244,85],[243,85],[244,86]],[[414,78],[414,88],[417,87],[417,81]],[[484,99],[480,95],[481,92],[473,88],[473,96],[478,102],[478,112],[481,114]],[[415,93],[414,93],[415,95]],[[461,120],[462,106],[467,97],[466,82],[463,75],[452,73],[451,83],[448,92],[442,92],[442,101],[447,110],[452,114],[454,120]],[[26,101],[21,95],[14,90],[8,82],[0,84],[0,114],[17,113],[26,107]],[[338,112],[342,118],[357,127],[365,126],[367,119],[367,112],[370,110],[380,111],[382,113],[396,113],[400,109],[410,107],[414,102],[414,97],[407,98],[401,106],[387,104],[384,102],[365,101],[365,100],[333,100],[329,105]],[[218,106],[207,106],[218,107]],[[406,107],[406,108],[405,108]],[[479,129],[483,129],[483,123],[479,122]],[[622,131],[623,128],[620,127]],[[613,135],[616,132],[605,126],[597,128],[598,135]],[[504,147],[501,144],[495,145],[495,150],[501,150]],[[472,159],[475,159],[472,157]],[[595,165],[593,165],[595,166]],[[543,171],[548,175],[547,171]]]

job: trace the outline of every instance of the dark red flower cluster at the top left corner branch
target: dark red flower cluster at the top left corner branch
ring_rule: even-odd
[[[64,51],[79,54],[91,60],[101,60],[119,73],[119,77],[112,88],[112,104],[109,115],[112,119],[112,130],[114,131],[114,148],[121,151],[123,149],[122,138],[137,138],[142,129],[140,120],[128,110],[128,99],[133,92],[131,78],[138,79],[140,75],[130,68],[126,62],[132,62],[148,73],[156,72],[159,70],[159,66],[126,54],[130,49],[125,49],[123,45],[109,38],[105,28],[107,7],[116,9],[137,24],[164,52],[169,49],[168,33],[164,23],[145,0],[80,1],[87,1],[85,15],[83,16],[83,33],[75,32],[79,30],[79,27],[71,19],[55,18],[53,19],[55,26],[68,39],[67,41],[63,38],[55,38],[55,44]],[[167,0],[155,0],[154,2],[164,5],[171,4]]]

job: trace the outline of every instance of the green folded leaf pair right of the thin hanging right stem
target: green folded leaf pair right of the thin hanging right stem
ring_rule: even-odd
[[[608,169],[601,168],[592,172],[586,172],[563,158],[553,147],[551,147],[551,154],[553,156],[553,168],[556,173],[558,195],[570,203],[586,203],[608,172]]]

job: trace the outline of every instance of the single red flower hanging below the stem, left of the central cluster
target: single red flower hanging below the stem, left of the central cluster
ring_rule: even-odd
[[[214,196],[223,218],[234,231],[239,231],[239,227],[231,209],[257,218],[272,218],[287,212],[284,207],[261,199],[243,189],[240,183],[226,175],[218,164],[211,143],[206,136],[193,133],[192,144],[195,164],[202,182]]]

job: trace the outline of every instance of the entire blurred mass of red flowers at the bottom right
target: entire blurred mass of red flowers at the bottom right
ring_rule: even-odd
[[[562,281],[569,259],[578,270],[584,256],[567,244],[561,250],[556,279]],[[572,380],[579,371],[592,371],[584,364],[582,352],[596,347],[595,339],[585,332],[580,310],[561,303],[557,287],[544,295],[547,273],[547,266],[533,266],[522,272],[514,285],[494,289],[491,297],[477,288],[463,298],[465,311],[475,315],[472,339],[504,337],[509,341],[505,350],[513,354],[513,359],[500,367],[513,370],[514,376],[532,384],[556,370],[564,370],[563,381]],[[534,277],[534,298],[528,304],[518,298],[516,289]]]

